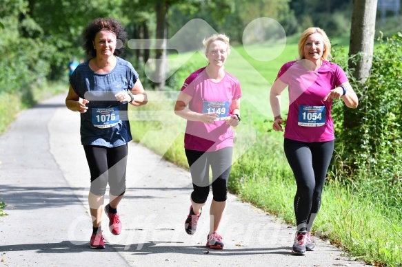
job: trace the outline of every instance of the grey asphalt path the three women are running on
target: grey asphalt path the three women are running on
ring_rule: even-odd
[[[128,145],[128,189],[119,205],[123,231],[112,235],[103,215],[106,248],[90,249],[90,174],[79,114],[65,107],[64,98],[22,111],[0,136],[0,202],[8,214],[0,217],[0,267],[364,266],[317,238],[314,251],[291,255],[294,226],[235,195],[229,195],[219,231],[225,248],[206,248],[209,205],[197,233],[183,229],[189,172],[134,142]]]

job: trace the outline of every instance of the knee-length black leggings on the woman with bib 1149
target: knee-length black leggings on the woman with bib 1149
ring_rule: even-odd
[[[210,193],[210,167],[212,169],[212,195],[217,202],[228,199],[228,180],[232,167],[233,147],[203,152],[185,149],[192,178],[191,199],[205,203]]]

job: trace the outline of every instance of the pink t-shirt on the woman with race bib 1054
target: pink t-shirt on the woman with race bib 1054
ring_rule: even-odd
[[[324,61],[318,70],[311,71],[301,61],[291,61],[281,67],[278,78],[289,90],[285,138],[301,142],[334,140],[332,100],[323,99],[330,90],[348,81],[341,67]]]

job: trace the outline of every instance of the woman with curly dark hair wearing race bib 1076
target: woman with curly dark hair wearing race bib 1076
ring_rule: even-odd
[[[117,206],[125,193],[127,143],[132,140],[128,103],[140,106],[148,101],[134,67],[118,57],[126,38],[119,21],[92,21],[83,31],[83,49],[89,59],[74,70],[66,97],[68,109],[81,113],[81,144],[90,169],[90,248],[105,248],[101,218],[108,184],[110,202],[105,213],[110,232],[121,233]]]

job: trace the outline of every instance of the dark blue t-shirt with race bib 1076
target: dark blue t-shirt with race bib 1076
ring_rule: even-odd
[[[88,111],[81,113],[81,144],[119,147],[132,140],[128,121],[128,103],[114,97],[128,91],[138,80],[138,73],[131,63],[116,57],[111,72],[99,74],[92,71],[89,61],[81,63],[70,78],[70,85],[79,97],[90,101]]]

